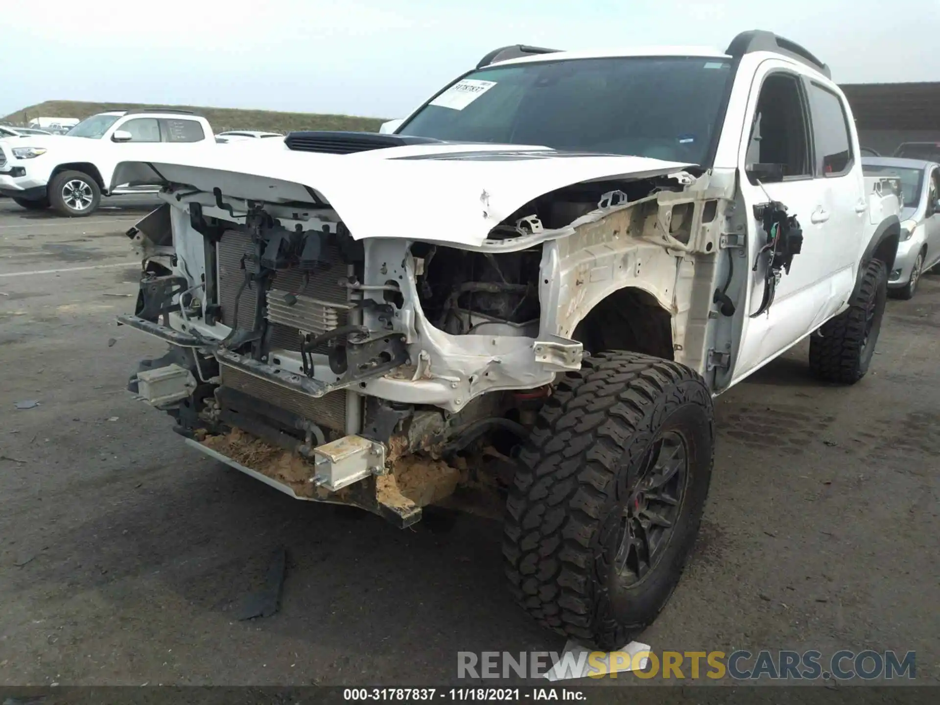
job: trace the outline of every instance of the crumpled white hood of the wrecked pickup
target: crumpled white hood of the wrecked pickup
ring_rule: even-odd
[[[283,145],[263,151],[153,145],[147,161],[119,163],[111,185],[173,183],[274,203],[313,203],[315,196],[337,211],[356,240],[479,245],[514,211],[556,189],[665,176],[691,165],[493,144],[422,144],[352,154]]]

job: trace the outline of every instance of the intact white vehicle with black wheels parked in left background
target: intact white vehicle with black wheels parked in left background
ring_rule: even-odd
[[[215,144],[209,121],[179,110],[139,109],[99,113],[64,135],[0,139],[0,195],[25,209],[52,206],[68,216],[88,215],[102,196],[154,193],[152,186],[111,185],[115,165],[139,148],[129,144]]]

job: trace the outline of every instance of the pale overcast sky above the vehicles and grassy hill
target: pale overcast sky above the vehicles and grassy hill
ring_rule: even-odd
[[[505,44],[724,49],[755,28],[840,83],[940,81],[940,0],[0,0],[0,24],[0,116],[84,100],[395,118]]]

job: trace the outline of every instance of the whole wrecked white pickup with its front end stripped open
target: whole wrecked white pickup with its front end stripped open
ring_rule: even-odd
[[[825,381],[873,359],[897,198],[828,69],[773,34],[506,47],[392,133],[263,154],[118,168],[165,200],[128,233],[119,321],[169,351],[130,387],[298,499],[409,525],[497,497],[512,593],[604,650],[680,580],[713,397],[807,337]]]

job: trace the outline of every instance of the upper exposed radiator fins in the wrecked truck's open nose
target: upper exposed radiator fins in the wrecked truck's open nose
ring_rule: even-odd
[[[258,300],[255,284],[246,287],[238,296],[245,277],[245,269],[255,272],[256,266],[247,258],[254,246],[251,236],[241,230],[226,230],[216,245],[218,256],[219,304],[222,306],[222,322],[227,326],[236,324],[250,328]],[[271,344],[274,348],[297,351],[301,334],[320,335],[333,330],[347,321],[347,290],[339,284],[346,276],[343,262],[336,245],[326,245],[323,256],[331,265],[329,270],[304,273],[300,270],[285,270],[274,274],[268,292],[265,317],[271,322]],[[235,300],[239,299],[238,321],[235,321]]]

